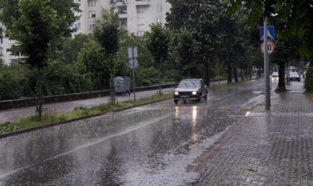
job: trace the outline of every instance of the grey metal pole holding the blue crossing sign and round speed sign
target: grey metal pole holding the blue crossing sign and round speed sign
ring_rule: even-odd
[[[265,94],[265,110],[271,108],[270,95],[270,73],[269,73],[269,54],[267,42],[267,16],[264,18],[264,94]]]

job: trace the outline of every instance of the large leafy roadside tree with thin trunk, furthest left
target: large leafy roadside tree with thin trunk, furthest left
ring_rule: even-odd
[[[2,0],[0,1],[0,22],[5,26],[5,36],[17,41],[10,50],[23,54],[23,62],[38,72],[39,103],[37,111],[42,112],[41,68],[46,66],[63,36],[70,36],[78,17],[73,11],[80,11],[79,4],[72,0]]]

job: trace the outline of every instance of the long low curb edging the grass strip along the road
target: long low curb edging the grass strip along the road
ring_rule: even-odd
[[[26,133],[26,132],[31,132],[31,131],[43,129],[43,128],[48,128],[48,127],[51,127],[51,126],[58,126],[58,125],[61,125],[61,124],[67,124],[67,123],[71,123],[71,122],[77,122],[77,121],[80,121],[80,120],[95,118],[95,117],[98,117],[98,116],[104,116],[104,115],[108,115],[108,114],[111,114],[111,113],[121,112],[121,111],[129,110],[129,109],[132,109],[132,108],[135,108],[135,107],[145,106],[145,105],[158,103],[158,102],[162,102],[162,101],[166,101],[166,100],[170,100],[170,99],[173,99],[173,97],[159,99],[159,100],[156,100],[156,101],[150,101],[150,102],[147,102],[147,103],[141,103],[141,104],[138,104],[138,105],[133,105],[133,106],[129,106],[129,107],[119,108],[119,109],[115,109],[115,110],[111,110],[111,111],[107,111],[107,112],[102,112],[102,113],[98,113],[98,114],[93,114],[93,115],[89,115],[89,116],[73,118],[73,119],[70,119],[70,120],[65,120],[65,121],[56,122],[56,123],[52,123],[52,124],[43,124],[43,125],[40,125],[40,126],[35,126],[35,127],[31,127],[31,128],[17,130],[17,131],[6,133],[6,134],[0,134],[0,139],[6,138],[6,137],[10,137],[10,136],[14,136],[14,135],[17,135],[17,134],[22,134],[22,133]]]

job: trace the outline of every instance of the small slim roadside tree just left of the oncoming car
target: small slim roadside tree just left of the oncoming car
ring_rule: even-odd
[[[162,24],[152,23],[150,25],[150,32],[146,33],[148,38],[147,48],[150,51],[157,69],[161,71],[163,62],[169,57],[170,32],[162,26]],[[161,93],[161,76],[159,75],[159,93]]]

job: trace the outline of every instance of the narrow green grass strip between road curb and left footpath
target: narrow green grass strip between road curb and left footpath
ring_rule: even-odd
[[[150,97],[143,97],[136,100],[127,100],[123,102],[119,102],[118,104],[112,105],[109,103],[101,104],[98,106],[93,106],[90,108],[79,106],[75,107],[72,111],[62,113],[62,114],[47,114],[42,117],[38,115],[33,115],[27,118],[23,118],[16,122],[5,122],[0,124],[0,134],[6,134],[9,132],[22,130],[26,128],[32,128],[35,126],[40,126],[44,124],[52,124],[56,122],[62,122],[65,120],[70,120],[74,118],[79,118],[83,116],[89,116],[93,114],[108,112],[115,109],[126,108],[134,105],[139,105],[142,103],[149,103],[151,101],[156,101],[165,98],[171,98],[173,94],[156,94]]]

